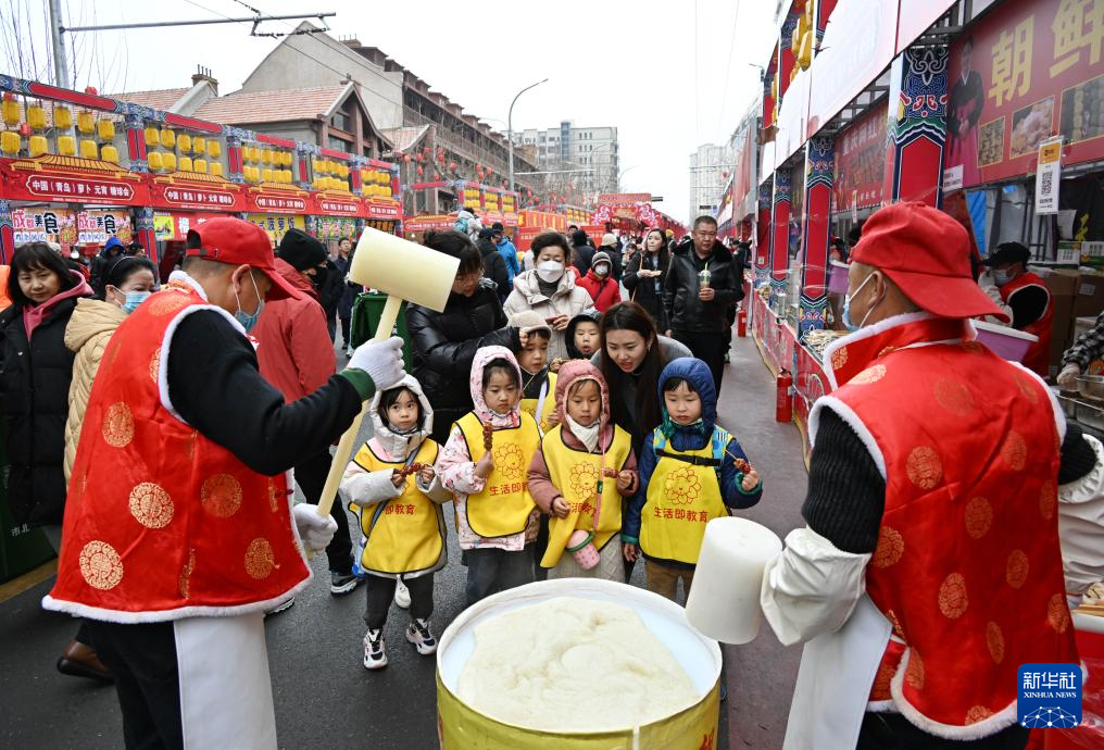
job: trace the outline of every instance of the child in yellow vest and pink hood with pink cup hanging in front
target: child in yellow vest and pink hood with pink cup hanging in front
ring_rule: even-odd
[[[548,550],[538,564],[552,569],[551,578],[624,581],[618,534],[622,497],[631,497],[638,484],[633,439],[611,423],[605,378],[590,362],[564,362],[556,401],[562,422],[545,433],[529,466],[533,500],[552,516]],[[573,543],[573,536],[588,539]],[[598,553],[592,568],[576,560],[583,543]]]

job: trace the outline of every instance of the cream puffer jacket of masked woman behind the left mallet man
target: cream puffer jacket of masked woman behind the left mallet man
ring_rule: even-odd
[[[65,326],[65,346],[74,353],[73,381],[70,383],[68,416],[65,420],[65,483],[68,484],[81,441],[84,413],[88,408],[92,383],[112,335],[127,314],[119,307],[99,299],[77,299],[76,309]]]

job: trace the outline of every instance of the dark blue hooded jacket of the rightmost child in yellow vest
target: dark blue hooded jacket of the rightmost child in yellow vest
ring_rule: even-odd
[[[664,401],[664,384],[672,378],[684,379],[701,398],[701,423],[699,425],[676,424],[667,413],[667,405]],[[716,426],[716,388],[713,385],[713,376],[710,373],[709,367],[700,359],[692,357],[680,357],[672,360],[660,373],[657,391],[664,420],[657,430],[664,432],[670,447],[676,451],[697,451],[709,445],[713,429]],[[740,441],[736,440],[735,435],[731,435],[720,467],[721,499],[730,508],[750,508],[760,501],[763,496],[763,486],[761,483],[752,492],[745,493],[740,486],[743,475],[736,471],[735,458],[746,459],[747,456],[744,454]],[[668,458],[667,461],[677,459]],[[638,466],[640,488],[628,504],[622,529],[622,539],[628,543],[637,543],[639,540],[640,511],[648,501],[648,484],[656,471],[656,463],[657,456],[652,446],[652,437],[648,436],[644,441]],[[666,566],[686,567],[671,560],[662,560],[661,562]]]

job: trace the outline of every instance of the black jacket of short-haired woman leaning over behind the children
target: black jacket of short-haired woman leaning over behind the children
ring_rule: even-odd
[[[513,351],[521,348],[518,329],[507,327],[506,313],[488,279],[480,279],[470,297],[449,294],[444,313],[411,305],[406,329],[414,352],[413,374],[435,412],[471,409],[469,383],[477,349],[492,345]],[[437,422],[435,418],[434,433],[438,427],[447,433],[448,424]]]

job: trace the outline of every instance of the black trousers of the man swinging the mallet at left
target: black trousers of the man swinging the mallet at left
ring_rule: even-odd
[[[183,748],[172,623],[119,625],[86,620],[85,624],[96,654],[115,676],[127,749]]]

